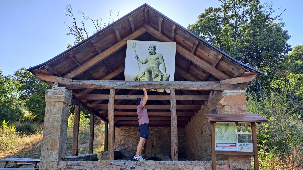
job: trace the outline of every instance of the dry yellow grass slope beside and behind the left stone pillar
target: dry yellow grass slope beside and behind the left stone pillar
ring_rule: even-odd
[[[68,129],[67,132],[67,146],[65,155],[72,155],[72,135],[73,129]],[[15,149],[0,152],[0,159],[9,157],[18,158],[40,158],[42,133],[32,135],[19,135]],[[79,128],[78,139],[78,154],[88,153],[89,146],[89,127]],[[94,133],[94,153],[104,151],[104,124],[95,125]],[[0,162],[0,167],[3,167],[4,162]]]

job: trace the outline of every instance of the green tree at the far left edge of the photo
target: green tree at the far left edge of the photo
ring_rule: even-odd
[[[16,81],[11,75],[3,76],[0,70],[0,122],[22,119],[15,84]]]

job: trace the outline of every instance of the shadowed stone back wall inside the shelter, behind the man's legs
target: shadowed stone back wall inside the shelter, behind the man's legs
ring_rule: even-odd
[[[153,157],[171,155],[171,128],[149,127],[148,136],[153,138]],[[135,155],[139,137],[138,127],[115,127],[115,150],[120,150],[124,157]],[[185,128],[178,128],[178,153],[185,154]]]

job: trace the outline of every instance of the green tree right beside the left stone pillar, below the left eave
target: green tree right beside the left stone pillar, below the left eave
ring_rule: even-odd
[[[22,106],[38,116],[40,120],[44,120],[45,89],[51,87],[27,71],[25,67],[17,70],[14,75],[18,82],[19,100],[24,102]]]

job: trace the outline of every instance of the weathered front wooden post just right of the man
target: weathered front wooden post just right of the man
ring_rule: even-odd
[[[170,89],[171,96],[171,160],[178,161],[178,128],[177,128],[177,109],[176,92]]]

